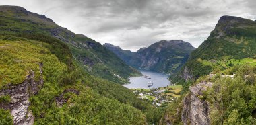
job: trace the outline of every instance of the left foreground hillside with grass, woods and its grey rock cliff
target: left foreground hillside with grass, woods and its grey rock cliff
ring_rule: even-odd
[[[0,116],[4,123],[145,124],[146,117],[132,107],[137,98],[128,89],[86,75],[75,64],[70,69],[57,58],[60,53],[49,49],[44,42],[1,36],[0,108],[13,116],[13,121]],[[116,89],[122,101],[104,85]]]

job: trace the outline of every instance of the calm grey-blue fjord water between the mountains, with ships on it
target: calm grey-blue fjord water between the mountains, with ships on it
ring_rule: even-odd
[[[148,75],[151,79],[146,79],[143,76],[141,77],[130,77],[130,84],[123,85],[129,89],[135,88],[157,88],[157,87],[166,87],[170,81],[168,81],[168,75],[163,73],[156,73],[150,71],[141,71],[143,75]],[[154,81],[154,84],[151,87],[148,87],[147,84],[149,81]]]

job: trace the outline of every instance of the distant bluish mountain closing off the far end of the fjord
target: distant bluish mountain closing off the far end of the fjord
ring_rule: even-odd
[[[119,46],[104,44],[119,58],[137,69],[146,69],[162,73],[176,73],[189,58],[195,48],[181,40],[162,40],[148,48],[141,48],[137,52],[122,50]]]

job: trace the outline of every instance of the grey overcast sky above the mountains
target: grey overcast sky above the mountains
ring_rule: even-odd
[[[102,44],[138,50],[159,40],[198,47],[222,15],[256,19],[255,0],[1,0]]]

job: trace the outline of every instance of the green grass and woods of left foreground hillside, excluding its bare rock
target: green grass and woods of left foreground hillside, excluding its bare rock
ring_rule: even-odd
[[[0,36],[3,57],[0,59],[0,87],[22,83],[31,70],[38,76],[38,63],[43,64],[44,85],[30,97],[35,124],[146,124],[155,121],[152,111],[156,108],[137,99],[129,89],[82,71],[61,41],[53,38],[53,45],[47,43],[49,39],[37,38],[40,40]],[[54,46],[63,48],[55,50]],[[78,94],[65,92],[67,90],[78,91]],[[66,100],[62,106],[57,104],[60,96]],[[1,112],[7,115],[3,116],[3,123],[7,122],[10,114]]]

